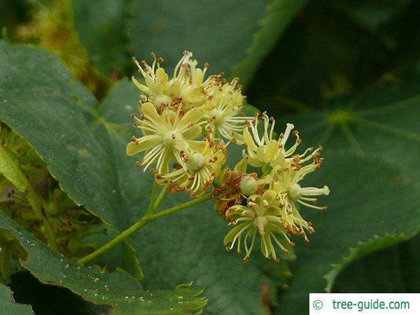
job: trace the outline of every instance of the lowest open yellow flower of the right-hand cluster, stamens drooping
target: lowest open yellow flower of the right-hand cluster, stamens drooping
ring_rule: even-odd
[[[241,248],[244,248],[243,260],[246,261],[258,234],[262,255],[278,262],[274,246],[281,248],[284,253],[288,253],[286,246],[294,246],[284,227],[284,216],[283,201],[273,190],[265,190],[262,195],[252,195],[248,197],[246,206],[237,204],[226,211],[226,217],[231,218],[235,227],[225,236],[224,243],[230,244],[228,250],[236,245],[238,255],[241,255]]]

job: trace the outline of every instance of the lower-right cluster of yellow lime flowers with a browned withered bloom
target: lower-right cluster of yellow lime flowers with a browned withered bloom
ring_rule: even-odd
[[[261,120],[262,136],[258,129]],[[274,245],[288,253],[288,247],[294,246],[291,235],[302,235],[308,241],[307,233],[314,232],[314,228],[300,216],[300,207],[324,210],[326,207],[316,205],[315,196],[330,193],[327,186],[302,188],[299,183],[323,162],[319,157],[322,147],[295,153],[301,140],[297,131],[292,132],[294,126],[287,124],[285,132],[276,139],[274,125],[274,119],[265,113],[254,118],[244,130],[246,149],[242,160],[233,171],[225,170],[223,184],[216,190],[218,210],[234,225],[224,239],[225,245],[230,244],[228,250],[236,245],[238,255],[244,248],[245,261],[251,255],[257,234],[262,255],[275,261],[279,258]],[[295,142],[288,147],[290,134]],[[260,176],[247,174],[248,165],[260,169]],[[234,185],[230,182],[232,177],[236,179]]]

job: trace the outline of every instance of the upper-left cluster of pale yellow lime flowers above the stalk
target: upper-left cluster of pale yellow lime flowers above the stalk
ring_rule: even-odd
[[[137,165],[145,170],[153,165],[155,179],[169,190],[199,195],[221,173],[226,146],[242,143],[252,118],[241,113],[244,96],[237,78],[228,82],[223,73],[205,78],[208,64],[198,68],[186,51],[169,79],[162,58],[152,56],[152,66],[133,59],[145,83],[132,78],[142,92],[141,115],[132,114],[142,136],[132,137],[127,154],[144,152]]]

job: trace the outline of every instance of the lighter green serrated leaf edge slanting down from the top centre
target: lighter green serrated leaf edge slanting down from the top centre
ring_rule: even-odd
[[[274,0],[267,6],[268,15],[260,21],[260,30],[254,34],[246,57],[234,69],[234,75],[241,78],[242,85],[248,85],[277,38],[307,3],[308,0]]]

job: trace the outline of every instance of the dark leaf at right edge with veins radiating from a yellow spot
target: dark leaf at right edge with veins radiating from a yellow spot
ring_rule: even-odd
[[[293,122],[306,144],[383,155],[405,170],[407,181],[418,182],[419,80],[420,64],[414,64],[323,111],[282,116],[278,122]]]

